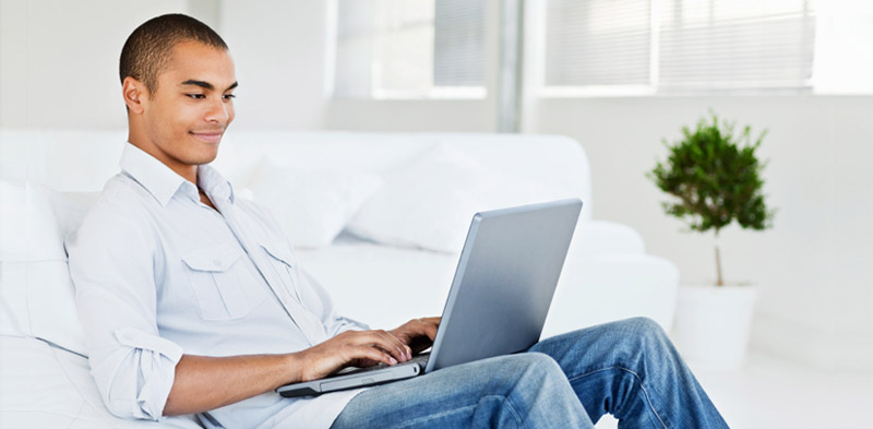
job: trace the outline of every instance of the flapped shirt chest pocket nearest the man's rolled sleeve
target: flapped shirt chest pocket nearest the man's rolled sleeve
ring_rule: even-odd
[[[266,297],[259,275],[243,257],[242,249],[231,245],[182,255],[204,320],[244,318]]]

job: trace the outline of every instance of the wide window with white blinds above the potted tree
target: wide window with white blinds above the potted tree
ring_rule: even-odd
[[[809,0],[548,0],[546,93],[812,86]]]

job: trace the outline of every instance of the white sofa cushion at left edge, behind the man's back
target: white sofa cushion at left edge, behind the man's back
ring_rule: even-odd
[[[32,182],[0,180],[0,334],[36,337],[86,355],[63,250],[63,237],[75,230],[84,208]]]

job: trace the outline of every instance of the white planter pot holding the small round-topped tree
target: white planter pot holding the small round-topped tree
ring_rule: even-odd
[[[709,369],[742,366],[756,298],[749,285],[680,286],[673,342],[685,361]]]

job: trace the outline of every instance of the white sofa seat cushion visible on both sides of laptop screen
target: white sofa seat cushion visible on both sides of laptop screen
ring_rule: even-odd
[[[585,234],[585,228],[577,230]],[[459,252],[380,246],[343,234],[333,246],[301,249],[298,257],[331,294],[338,313],[374,329],[391,329],[442,313]],[[649,317],[669,331],[678,285],[679,271],[662,258],[571,247],[542,337],[636,315]],[[385,311],[386,296],[391,311]]]

